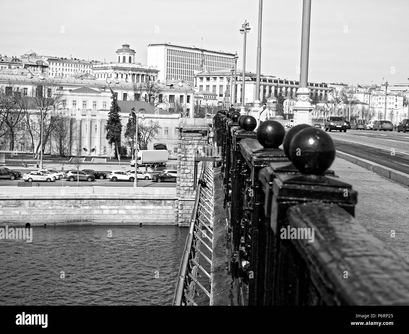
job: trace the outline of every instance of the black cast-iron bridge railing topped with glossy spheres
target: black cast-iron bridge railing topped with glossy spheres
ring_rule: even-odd
[[[219,112],[231,274],[248,305],[409,304],[409,264],[354,219],[321,129]],[[283,149],[279,146],[283,144]],[[217,190],[216,190],[217,191]]]

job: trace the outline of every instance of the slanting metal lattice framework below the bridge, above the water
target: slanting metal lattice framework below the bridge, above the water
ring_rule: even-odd
[[[210,281],[211,276],[200,262],[204,260],[211,265],[211,258],[206,256],[200,247],[203,245],[205,251],[212,254],[213,205],[213,165],[209,161],[204,161],[196,188],[195,205],[191,215],[189,234],[184,246],[172,305],[197,306],[198,304],[195,301],[195,296],[198,295],[196,286],[210,298],[210,292],[203,284],[205,284],[204,280],[206,278]],[[210,237],[207,235],[208,233]],[[199,270],[205,275],[203,279],[200,279]]]

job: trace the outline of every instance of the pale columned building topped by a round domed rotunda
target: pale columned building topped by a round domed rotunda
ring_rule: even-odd
[[[129,44],[117,49],[115,62],[100,63],[92,66],[92,74],[97,80],[144,82],[157,80],[159,69],[155,66],[135,62],[135,50]]]

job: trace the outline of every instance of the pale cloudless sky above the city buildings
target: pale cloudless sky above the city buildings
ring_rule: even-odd
[[[261,73],[299,80],[302,0],[264,0]],[[146,64],[149,43],[236,52],[256,72],[258,0],[0,0],[0,54],[115,61],[128,43]],[[312,0],[308,81],[409,83],[409,1]],[[202,40],[203,38],[203,40]]]

